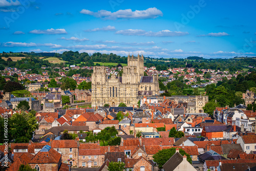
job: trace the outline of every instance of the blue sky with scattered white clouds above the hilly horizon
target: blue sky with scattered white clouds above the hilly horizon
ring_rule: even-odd
[[[0,51],[256,56],[255,1],[0,0]]]

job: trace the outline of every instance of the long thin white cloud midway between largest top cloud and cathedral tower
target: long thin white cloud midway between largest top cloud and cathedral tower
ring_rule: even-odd
[[[150,37],[172,37],[172,36],[183,36],[187,35],[188,32],[181,31],[169,31],[162,30],[159,32],[145,31],[139,29],[127,29],[127,30],[119,30],[116,34],[128,35],[128,36],[150,36]]]

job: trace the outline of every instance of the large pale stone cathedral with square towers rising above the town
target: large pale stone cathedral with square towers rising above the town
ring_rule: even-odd
[[[139,96],[155,95],[159,95],[158,74],[144,76],[143,55],[128,55],[122,76],[109,77],[104,66],[93,68],[92,107],[104,104],[116,107],[120,103],[137,107]]]

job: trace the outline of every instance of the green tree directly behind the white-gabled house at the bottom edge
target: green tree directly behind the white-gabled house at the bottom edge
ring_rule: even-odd
[[[168,148],[168,149],[162,149],[161,151],[157,152],[155,155],[153,155],[154,161],[158,164],[159,168],[162,168],[163,165],[176,153],[176,148]],[[192,159],[191,157],[183,150],[179,149],[179,153],[184,156],[187,156],[187,161],[191,164]]]

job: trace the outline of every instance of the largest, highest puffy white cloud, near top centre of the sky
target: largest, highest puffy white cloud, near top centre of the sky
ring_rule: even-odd
[[[118,10],[116,12],[100,10],[98,12],[92,12],[86,9],[80,11],[82,14],[86,15],[93,15],[98,18],[102,19],[147,19],[147,18],[156,18],[158,16],[163,16],[162,11],[157,8],[148,8],[146,10],[135,10],[132,11],[131,9],[126,10]]]

